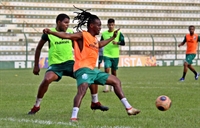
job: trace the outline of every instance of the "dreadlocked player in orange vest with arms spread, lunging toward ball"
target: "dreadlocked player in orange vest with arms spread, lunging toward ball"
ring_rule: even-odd
[[[74,41],[74,76],[77,80],[78,91],[74,97],[71,121],[77,122],[77,115],[82,99],[91,84],[112,85],[115,94],[126,108],[127,114],[136,115],[140,113],[140,110],[133,108],[125,98],[121,88],[121,81],[116,76],[95,69],[99,48],[114,40],[119,29],[113,33],[111,38],[99,42],[96,35],[100,33],[101,21],[96,15],[82,10],[81,13],[78,13],[78,15],[74,17],[74,19],[78,20],[77,29],[87,23],[87,31],[83,30],[74,34],[67,34],[65,32],[54,32],[50,29],[44,29],[44,32],[49,35],[52,34],[62,39]]]

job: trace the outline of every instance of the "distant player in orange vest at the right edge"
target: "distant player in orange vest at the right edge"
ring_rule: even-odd
[[[192,61],[196,57],[197,54],[197,47],[198,41],[200,41],[200,36],[194,33],[195,27],[193,25],[189,26],[189,34],[186,34],[182,43],[178,45],[178,47],[183,46],[187,43],[187,50],[186,50],[186,58],[184,62],[184,69],[183,69],[183,76],[180,78],[180,81],[185,80],[185,75],[187,73],[188,68],[194,73],[195,80],[198,80],[199,74],[195,71],[192,66]]]

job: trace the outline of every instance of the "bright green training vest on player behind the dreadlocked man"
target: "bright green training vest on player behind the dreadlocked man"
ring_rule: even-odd
[[[51,28],[51,31],[57,32],[55,28]],[[73,30],[67,29],[67,33],[73,33]],[[57,36],[48,34],[50,40],[48,63],[60,64],[68,60],[74,60],[72,53],[72,41],[69,39],[61,39]]]

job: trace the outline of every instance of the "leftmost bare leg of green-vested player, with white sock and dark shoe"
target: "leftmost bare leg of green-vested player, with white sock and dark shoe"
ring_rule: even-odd
[[[58,76],[53,71],[46,72],[44,79],[38,88],[35,104],[28,114],[35,114],[36,112],[40,110],[40,103],[42,101],[42,98],[44,97],[44,94],[48,90],[49,84],[52,81],[57,80],[57,79],[58,79]]]

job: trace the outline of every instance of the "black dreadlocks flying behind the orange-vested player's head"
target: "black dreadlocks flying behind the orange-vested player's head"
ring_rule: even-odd
[[[76,31],[81,31],[82,26],[83,25],[85,26],[85,23],[87,23],[87,28],[88,28],[91,23],[94,23],[94,21],[96,19],[99,19],[98,16],[87,12],[87,10],[91,10],[91,9],[83,10],[83,9],[77,8],[75,6],[74,6],[74,8],[82,11],[81,13],[80,12],[74,12],[74,13],[77,13],[77,16],[74,17],[74,20],[78,20],[78,25],[74,27],[74,28],[76,28]],[[74,20],[73,20],[73,22],[74,22]]]

